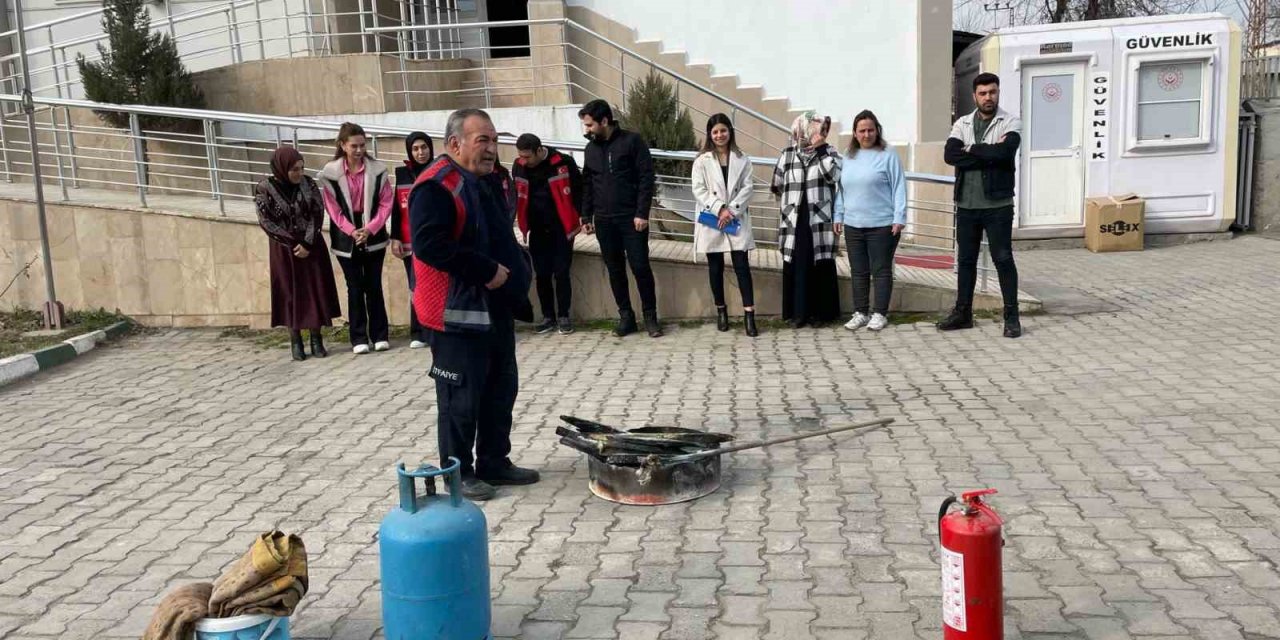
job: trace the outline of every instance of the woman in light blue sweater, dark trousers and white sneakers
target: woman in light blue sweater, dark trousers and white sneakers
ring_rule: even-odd
[[[888,325],[893,294],[893,252],[906,225],[906,177],[897,154],[886,148],[876,114],[854,116],[836,193],[836,233],[844,233],[854,280],[854,317],[845,329],[878,332]],[[876,305],[870,284],[876,282]]]

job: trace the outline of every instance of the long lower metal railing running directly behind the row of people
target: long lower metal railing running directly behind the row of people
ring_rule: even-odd
[[[0,95],[0,104],[20,102],[17,95]],[[315,170],[333,159],[333,137],[342,123],[243,114],[196,109],[155,108],[140,105],[106,105],[70,99],[36,97],[38,109],[37,148],[45,166],[45,184],[58,188],[60,197],[70,200],[72,189],[95,188],[132,191],[142,206],[155,196],[191,196],[209,198],[224,215],[227,205],[247,204],[253,187],[268,173],[271,154],[280,145],[292,145],[302,152],[306,166]],[[128,128],[115,128],[87,118],[91,111],[111,111],[128,116]],[[147,127],[151,118],[179,122],[177,131]],[[403,137],[410,129],[399,127],[364,127],[370,137],[370,152],[376,156],[379,143],[394,156],[403,150]],[[428,132],[440,140],[442,132]],[[562,151],[582,151],[580,141],[547,142]],[[499,145],[515,145],[515,137],[503,134]],[[0,177],[6,182],[31,180],[31,142],[24,122],[0,119]],[[657,160],[690,163],[690,151],[653,150]],[[392,161],[394,163],[394,160]],[[768,175],[776,159],[751,157],[756,188],[750,202],[751,225],[762,248],[777,247],[778,206],[768,192]],[[951,184],[945,175],[908,173],[914,184]],[[694,234],[696,205],[691,179],[681,175],[658,175],[658,189],[652,211],[653,236],[689,242]],[[951,202],[911,198],[910,223],[904,230],[901,247],[906,251],[933,253],[934,268],[952,265],[954,206]],[[946,257],[937,257],[946,253]],[[983,247],[983,256],[986,256]],[[919,260],[927,261],[928,257]],[[983,257],[979,285],[987,291],[989,260]]]

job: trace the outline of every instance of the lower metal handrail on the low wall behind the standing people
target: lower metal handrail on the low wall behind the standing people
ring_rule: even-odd
[[[0,93],[0,104],[15,104],[22,96],[13,93]],[[206,109],[184,109],[148,105],[110,105],[88,100],[35,97],[33,102],[40,108],[40,113],[47,114],[49,119],[38,123],[40,137],[51,142],[38,141],[37,148],[41,155],[52,156],[58,166],[56,173],[46,175],[46,183],[55,183],[61,188],[63,200],[69,200],[68,189],[79,188],[81,184],[114,188],[136,189],[142,206],[147,206],[150,195],[188,195],[210,197],[218,202],[219,210],[225,214],[225,202],[246,201],[251,197],[252,186],[261,178],[264,157],[270,154],[275,145],[289,141],[308,157],[321,156],[328,159],[332,146],[326,143],[306,142],[303,137],[323,137],[320,132],[334,132],[342,123],[332,120],[319,120],[307,118],[276,116],[266,114],[247,114],[237,111],[220,111]],[[81,125],[72,123],[69,109],[88,109],[96,111],[116,111],[128,114],[131,127],[119,129],[105,125]],[[59,122],[58,111],[68,111]],[[175,119],[198,120],[204,124],[205,134],[183,132],[154,132],[145,131],[140,125],[142,116],[164,116]],[[243,124],[253,128],[243,134],[219,134],[218,124]],[[0,133],[5,127],[12,127],[0,122]],[[253,133],[253,131],[261,133]],[[273,132],[274,131],[274,136]],[[285,137],[283,132],[291,132]],[[371,136],[374,150],[376,150],[378,137],[385,138],[403,137],[410,133],[408,128],[370,124],[365,127]],[[429,131],[428,134],[442,138],[443,132]],[[90,143],[76,145],[74,137],[95,136],[97,140],[109,140],[106,145],[92,141]],[[256,136],[256,137],[255,137]],[[143,142],[165,142],[192,145],[193,148],[156,148],[155,146],[143,154]],[[499,143],[513,145],[516,137],[509,133],[499,134]],[[111,148],[111,145],[120,143],[123,148]],[[563,151],[582,151],[586,148],[585,141],[547,141],[548,145]],[[13,182],[14,177],[29,178],[32,175],[31,163],[20,157],[19,150],[29,150],[31,143],[22,140],[12,140],[0,136],[0,154],[3,154],[4,179]],[[652,156],[658,160],[692,161],[700,152],[696,151],[667,151],[652,150]],[[756,168],[768,169],[776,164],[774,157],[749,156]],[[69,163],[67,163],[69,160]],[[86,174],[86,172],[88,172]],[[908,173],[906,178],[916,183],[927,184],[952,184],[954,178],[947,175],[933,175],[922,173]],[[161,179],[157,184],[155,180]],[[659,233],[675,239],[689,239],[692,237],[694,223],[691,220],[695,204],[691,195],[685,191],[690,186],[687,175],[659,175],[655,198],[654,216],[655,228],[663,229]],[[675,191],[672,191],[675,189]],[[931,207],[929,205],[938,205]],[[954,214],[952,209],[946,209],[948,204],[931,202],[924,200],[911,201],[909,206],[916,211],[932,211],[943,215]],[[777,233],[778,206],[768,195],[768,182],[760,180],[753,195],[753,227],[756,229],[758,243],[768,247],[776,243],[772,236]],[[954,223],[932,224],[928,221],[913,221],[904,232],[904,247],[919,247],[927,251],[946,251],[950,244],[954,247]],[[929,242],[933,241],[933,242]],[[942,246],[937,246],[938,243]],[[983,247],[986,252],[986,247]],[[986,253],[984,253],[986,256]],[[980,266],[979,285],[987,291],[989,265],[986,257]]]

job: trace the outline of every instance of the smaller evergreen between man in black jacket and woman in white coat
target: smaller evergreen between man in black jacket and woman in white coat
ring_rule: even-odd
[[[689,109],[680,106],[676,90],[650,70],[627,93],[627,111],[618,116],[626,127],[640,134],[650,147],[664,151],[691,151],[698,148],[694,120]],[[689,177],[691,163],[682,160],[654,160],[659,175]]]

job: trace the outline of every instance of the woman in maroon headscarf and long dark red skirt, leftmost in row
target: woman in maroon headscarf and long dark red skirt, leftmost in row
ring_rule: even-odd
[[[329,247],[320,234],[324,201],[302,170],[302,154],[280,147],[271,156],[271,177],[253,192],[257,221],[271,241],[271,326],[288,326],[293,360],[306,360],[302,329],[311,332],[311,355],[328,356],[321,326],[342,316]]]

